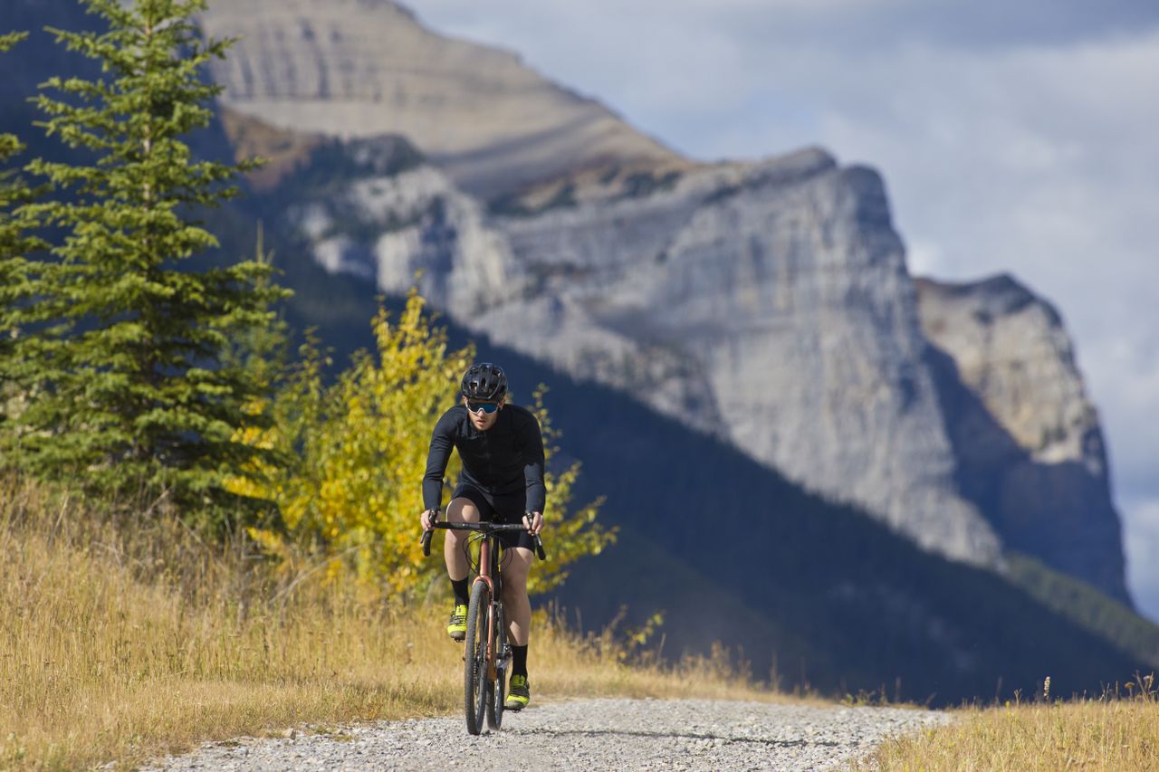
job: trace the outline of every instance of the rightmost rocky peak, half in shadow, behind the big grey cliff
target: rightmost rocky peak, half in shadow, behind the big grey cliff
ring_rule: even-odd
[[[1130,603],[1102,432],[1058,313],[1009,276],[917,287],[921,327],[949,359],[964,493],[1007,546]]]

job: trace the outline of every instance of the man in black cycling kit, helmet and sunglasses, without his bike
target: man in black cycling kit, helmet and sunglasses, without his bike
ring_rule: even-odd
[[[511,685],[506,709],[519,711],[531,701],[527,684],[527,640],[531,603],[527,571],[531,568],[533,534],[544,527],[544,440],[539,421],[531,412],[506,405],[508,383],[503,369],[491,363],[473,364],[462,377],[461,405],[438,420],[431,435],[423,475],[423,530],[431,531],[443,497],[443,474],[458,449],[462,461],[459,485],[446,507],[449,523],[519,523],[527,531],[498,534],[503,544],[503,609],[511,643]],[[530,512],[529,518],[526,514]],[[467,536],[447,531],[443,546],[446,573],[454,592],[454,610],[447,634],[461,641],[467,631]]]

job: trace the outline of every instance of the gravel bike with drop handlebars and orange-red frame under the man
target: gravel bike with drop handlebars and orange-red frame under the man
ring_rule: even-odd
[[[438,511],[435,512],[436,520]],[[531,512],[527,512],[530,520]],[[471,603],[467,606],[467,636],[464,639],[462,701],[467,714],[467,731],[478,735],[487,726],[498,729],[503,723],[503,705],[506,701],[506,671],[511,664],[511,646],[506,640],[506,620],[503,617],[502,544],[498,534],[503,531],[525,531],[522,523],[435,523],[437,529],[471,531],[467,541],[467,562],[476,576],[471,587]],[[423,554],[431,554],[431,536],[424,531]],[[544,541],[534,536],[535,554],[547,560]],[[478,559],[472,549],[478,542]]]

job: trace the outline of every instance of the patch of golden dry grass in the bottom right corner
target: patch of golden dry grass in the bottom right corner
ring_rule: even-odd
[[[889,741],[853,770],[1057,772],[1159,770],[1153,677],[1101,699],[963,708],[958,720]]]

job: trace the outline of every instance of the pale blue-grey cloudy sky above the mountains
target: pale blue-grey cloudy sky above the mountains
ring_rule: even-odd
[[[912,272],[1050,300],[1159,620],[1159,2],[403,0],[698,160],[821,146],[885,179]]]

